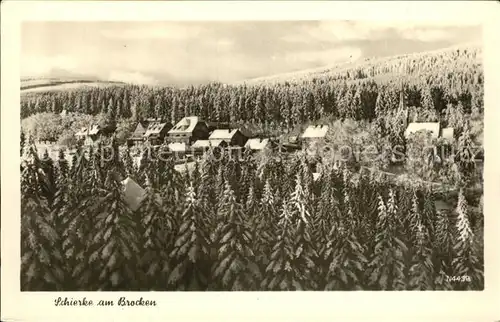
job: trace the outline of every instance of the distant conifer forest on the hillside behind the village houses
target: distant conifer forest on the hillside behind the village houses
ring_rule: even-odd
[[[21,97],[21,117],[66,110],[112,119],[162,117],[176,123],[197,115],[281,131],[325,116],[383,118],[398,106],[402,82],[406,105],[423,121],[436,121],[450,108],[482,115],[480,55],[480,49],[472,48],[408,56],[274,84],[212,83],[182,89],[125,85],[27,93]],[[443,121],[446,125],[447,118]]]

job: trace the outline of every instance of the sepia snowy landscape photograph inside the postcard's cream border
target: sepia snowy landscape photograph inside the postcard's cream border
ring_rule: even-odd
[[[21,291],[484,289],[480,25],[21,26]]]

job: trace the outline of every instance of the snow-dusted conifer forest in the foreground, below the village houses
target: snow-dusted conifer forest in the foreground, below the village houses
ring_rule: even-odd
[[[179,173],[154,150],[137,168],[112,146],[78,149],[71,166],[24,148],[23,291],[484,287],[483,214],[466,190],[447,213],[425,186],[328,161],[315,181],[303,153],[207,153]],[[147,190],[136,211],[126,176]]]

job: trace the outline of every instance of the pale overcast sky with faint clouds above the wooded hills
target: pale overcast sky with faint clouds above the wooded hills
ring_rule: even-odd
[[[480,41],[479,26],[355,21],[30,22],[21,76],[234,82]]]

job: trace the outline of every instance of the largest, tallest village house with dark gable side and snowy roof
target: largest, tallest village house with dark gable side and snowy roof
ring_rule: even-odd
[[[197,116],[187,116],[172,127],[167,134],[169,143],[184,143],[191,145],[198,140],[208,139],[207,124]]]

